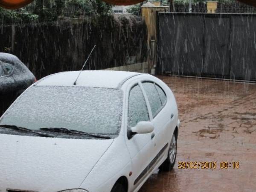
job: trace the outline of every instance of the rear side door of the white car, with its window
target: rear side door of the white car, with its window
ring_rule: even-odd
[[[153,81],[142,81],[142,87],[145,90],[152,113],[152,123],[154,125],[154,148],[152,151],[157,159],[154,165],[162,159],[172,139],[172,133],[175,129],[174,113],[172,101],[167,101],[166,93]],[[175,107],[175,105],[173,105]]]

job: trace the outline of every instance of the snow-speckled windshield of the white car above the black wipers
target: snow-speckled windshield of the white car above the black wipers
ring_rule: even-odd
[[[117,135],[122,121],[122,98],[122,90],[117,89],[33,86],[6,111],[0,125]]]

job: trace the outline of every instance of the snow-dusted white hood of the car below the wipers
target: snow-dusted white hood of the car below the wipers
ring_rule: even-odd
[[[78,188],[112,143],[0,134],[0,192]]]

